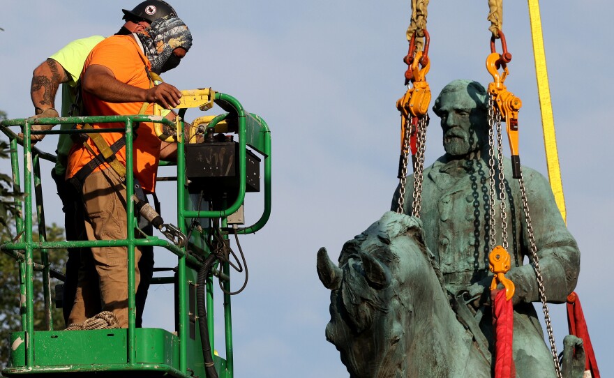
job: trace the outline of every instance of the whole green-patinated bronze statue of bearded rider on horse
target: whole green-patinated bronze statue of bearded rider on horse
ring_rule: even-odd
[[[424,237],[413,218],[387,213],[345,244],[340,268],[325,250],[318,253],[320,280],[332,290],[327,338],[341,351],[351,377],[491,377],[486,104],[484,87],[467,80],[451,82],[435,100],[446,153],[424,170]],[[555,377],[532,305],[539,301],[537,279],[533,266],[523,262],[530,255],[527,225],[518,180],[512,179],[507,159],[504,176],[512,261],[506,276],[516,285],[517,377]],[[546,296],[561,303],[576,285],[580,253],[546,179],[527,167],[523,176]],[[412,183],[413,176],[407,182]],[[407,187],[405,213],[412,204],[411,185]],[[393,209],[398,207],[396,193]],[[497,212],[499,204],[496,199]],[[499,222],[495,231],[500,244]],[[572,337],[566,345],[578,342]],[[575,358],[583,358],[581,347],[576,349]],[[567,365],[573,361],[568,359]],[[578,376],[571,368],[566,374]]]

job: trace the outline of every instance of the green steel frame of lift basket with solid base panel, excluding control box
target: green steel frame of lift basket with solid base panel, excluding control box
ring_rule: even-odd
[[[269,219],[271,213],[271,136],[267,123],[260,116],[247,113],[241,103],[232,96],[224,93],[215,94],[215,103],[223,107],[227,114],[217,116],[210,124],[215,124],[227,117],[237,117],[239,136],[239,195],[234,203],[221,211],[199,211],[188,209],[189,201],[186,201],[186,161],[184,142],[179,142],[177,156],[177,225],[181,232],[186,233],[186,220],[189,218],[220,218],[222,226],[226,226],[225,218],[239,209],[244,202],[246,194],[246,150],[247,146],[258,151],[264,156],[264,209],[262,216],[254,225],[240,229],[223,228],[228,234],[250,234],[261,229]],[[186,109],[181,109],[179,116],[185,114]],[[20,294],[22,329],[11,335],[11,352],[8,367],[3,370],[6,376],[29,376],[29,375],[66,375],[69,377],[86,376],[91,372],[100,375],[104,372],[117,374],[118,371],[130,371],[131,375],[140,377],[153,377],[171,375],[173,377],[205,377],[203,368],[202,349],[200,335],[195,333],[194,338],[188,335],[188,301],[190,301],[188,287],[195,285],[197,269],[202,265],[198,259],[188,254],[186,247],[180,248],[170,241],[149,236],[145,239],[135,239],[134,233],[128,232],[126,240],[113,241],[46,241],[45,214],[43,208],[42,185],[40,181],[40,159],[54,161],[55,156],[36,149],[29,142],[31,134],[61,134],[61,133],[91,133],[91,132],[122,132],[126,135],[126,195],[133,195],[133,134],[134,125],[138,122],[159,122],[167,126],[174,123],[166,119],[152,116],[87,116],[87,117],[61,117],[37,119],[38,124],[58,123],[123,123],[125,128],[113,128],[100,130],[30,130],[31,119],[5,120],[0,124],[2,132],[10,139],[11,167],[13,169],[13,182],[15,192],[21,192],[21,176],[18,161],[17,143],[23,146],[23,184],[24,196],[15,199],[17,209],[22,210],[22,216],[17,217],[15,222],[17,235],[15,241],[3,243],[0,249],[14,257],[19,262],[19,274],[21,278]],[[24,135],[23,140],[17,137],[9,127],[20,126]],[[34,184],[34,196],[32,196],[32,184]],[[33,210],[32,199],[36,199],[36,213],[38,218],[39,241],[33,241]],[[134,229],[135,216],[134,204],[127,202],[128,229]],[[207,247],[209,240],[202,241],[205,253],[209,253]],[[135,246],[153,245],[165,248],[177,255],[177,292],[175,298],[179,309],[179,327],[176,333],[171,333],[158,328],[135,328]],[[128,250],[128,328],[107,329],[96,331],[54,331],[51,312],[51,289],[50,278],[52,275],[59,278],[57,272],[49,269],[47,253],[56,248],[71,247],[105,247],[125,246]],[[33,262],[33,250],[41,250],[40,263]],[[218,268],[219,269],[219,268]],[[214,269],[214,273],[226,289],[230,289],[230,269],[228,264],[223,264],[220,271]],[[43,291],[45,298],[45,317],[47,318],[47,331],[34,331],[33,325],[33,285],[32,277],[35,271],[42,272]],[[155,283],[172,283],[173,278],[156,278]],[[209,324],[211,345],[215,345],[214,329],[214,292],[213,275],[207,280],[207,321]],[[225,323],[225,359],[214,356],[216,370],[220,377],[233,377],[233,347],[232,347],[232,312],[230,295],[224,294],[224,323]],[[194,298],[191,298],[194,300]],[[196,327],[198,324],[196,324]],[[196,328],[197,329],[197,328]]]

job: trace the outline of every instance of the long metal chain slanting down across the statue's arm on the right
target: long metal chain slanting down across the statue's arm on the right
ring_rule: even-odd
[[[548,342],[550,342],[550,351],[554,361],[554,367],[558,378],[562,378],[561,367],[558,360],[558,352],[554,340],[554,333],[552,331],[552,322],[550,319],[550,312],[548,311],[548,304],[546,303],[546,288],[544,287],[544,278],[541,276],[541,269],[539,267],[539,256],[537,256],[537,246],[535,245],[535,236],[533,234],[533,226],[531,224],[531,216],[529,212],[529,202],[527,201],[527,191],[525,190],[525,180],[522,176],[518,180],[518,184],[521,189],[521,197],[523,201],[523,210],[525,213],[525,219],[527,221],[527,234],[529,235],[529,246],[531,251],[531,257],[533,259],[533,269],[535,276],[537,277],[537,288],[539,290],[539,300],[541,301],[541,310],[544,312],[544,322],[546,323],[546,331],[548,332]]]

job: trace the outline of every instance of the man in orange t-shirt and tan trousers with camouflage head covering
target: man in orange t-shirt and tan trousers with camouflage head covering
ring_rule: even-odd
[[[84,114],[111,116],[153,114],[153,104],[165,109],[179,105],[181,91],[170,84],[153,84],[150,72],[163,73],[176,67],[192,45],[192,35],[176,16],[165,16],[142,32],[112,36],[98,43],[85,61],[82,73]],[[144,110],[144,112],[143,112]],[[121,128],[123,123],[95,123],[93,129]],[[176,149],[166,148],[153,130],[142,122],[133,141],[133,170],[137,185],[154,192],[158,161]],[[101,146],[103,144],[103,146]],[[111,158],[100,150],[110,148]],[[123,168],[123,172],[122,172]],[[66,179],[81,192],[89,240],[126,239],[126,140],[123,133],[89,134],[83,144],[75,144],[68,156]],[[131,200],[131,199],[128,199]],[[135,249],[135,262],[141,252]],[[89,261],[88,261],[89,259]],[[96,315],[89,298],[100,293],[103,311],[113,312],[119,326],[128,327],[128,253],[125,247],[91,248],[84,256],[79,285],[68,322],[81,324]],[[93,265],[100,285],[87,279],[84,267]],[[135,282],[140,271],[135,266]]]

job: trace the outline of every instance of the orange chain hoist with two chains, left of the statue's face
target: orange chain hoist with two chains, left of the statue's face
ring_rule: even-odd
[[[426,74],[430,69],[428,59],[428,45],[430,38],[428,31],[424,33],[424,50],[416,51],[416,32],[410,39],[407,56],[403,59],[407,63],[405,71],[405,85],[407,91],[396,102],[396,108],[401,115],[401,151],[399,158],[398,179],[400,190],[398,199],[398,213],[403,213],[405,204],[405,184],[407,183],[407,165],[410,151],[414,167],[414,191],[412,195],[412,216],[420,217],[422,194],[422,172],[424,172],[424,152],[426,151],[426,127],[428,126],[428,106],[430,105],[430,87],[426,82]]]

